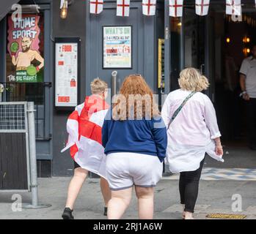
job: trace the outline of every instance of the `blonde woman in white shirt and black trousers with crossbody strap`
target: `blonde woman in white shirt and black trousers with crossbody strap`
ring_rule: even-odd
[[[223,150],[213,104],[201,92],[208,79],[187,68],[178,82],[180,89],[168,95],[161,115],[167,126],[167,164],[172,173],[180,173],[183,219],[193,219],[205,153],[223,162]]]

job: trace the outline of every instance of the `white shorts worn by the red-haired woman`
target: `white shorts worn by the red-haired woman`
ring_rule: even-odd
[[[106,156],[106,178],[112,191],[131,186],[154,187],[161,179],[163,163],[157,156],[130,152]]]

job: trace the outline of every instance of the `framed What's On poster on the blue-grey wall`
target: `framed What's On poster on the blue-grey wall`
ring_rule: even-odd
[[[103,69],[132,69],[131,44],[131,26],[103,26]]]

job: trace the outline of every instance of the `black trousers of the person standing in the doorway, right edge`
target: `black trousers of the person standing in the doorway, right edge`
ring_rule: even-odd
[[[247,137],[251,147],[256,147],[256,98],[246,102]]]

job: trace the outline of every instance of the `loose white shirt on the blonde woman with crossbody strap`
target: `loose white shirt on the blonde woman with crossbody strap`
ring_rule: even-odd
[[[168,95],[161,112],[167,127],[175,110],[190,93],[178,89]],[[211,99],[201,92],[197,92],[186,102],[167,129],[167,136],[166,163],[172,173],[197,170],[206,152],[213,159],[224,162],[222,157],[215,153],[213,141],[221,136],[216,112]]]

